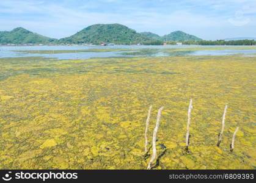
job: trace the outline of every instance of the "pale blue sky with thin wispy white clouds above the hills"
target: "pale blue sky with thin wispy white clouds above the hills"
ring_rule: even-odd
[[[1,0],[0,31],[24,27],[52,38],[119,23],[159,35],[182,30],[205,40],[256,37],[255,0]]]

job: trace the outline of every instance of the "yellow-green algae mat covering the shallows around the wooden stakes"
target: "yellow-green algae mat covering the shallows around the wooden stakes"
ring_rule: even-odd
[[[145,120],[152,105],[149,140],[165,106],[158,156],[160,144],[167,147],[155,169],[254,169],[255,61],[239,55],[0,59],[0,168],[145,169]]]

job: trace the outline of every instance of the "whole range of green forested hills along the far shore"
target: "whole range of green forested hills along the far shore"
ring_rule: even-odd
[[[136,30],[122,24],[94,24],[80,30],[70,37],[54,39],[36,34],[22,27],[11,31],[0,31],[0,44],[79,44],[79,43],[115,43],[130,45],[137,43],[150,44],[154,41],[187,41],[202,40],[182,31],[171,32],[163,37],[152,32],[137,33]]]

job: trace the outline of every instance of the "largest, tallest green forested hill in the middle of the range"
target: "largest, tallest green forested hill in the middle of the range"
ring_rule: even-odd
[[[61,38],[58,43],[115,43],[130,45],[152,41],[144,35],[137,33],[121,24],[94,24],[86,27],[70,37]]]

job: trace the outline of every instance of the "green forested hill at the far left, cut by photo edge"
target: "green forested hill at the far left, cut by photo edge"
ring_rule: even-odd
[[[51,43],[56,39],[33,33],[22,27],[11,31],[0,31],[0,44],[40,44]]]

